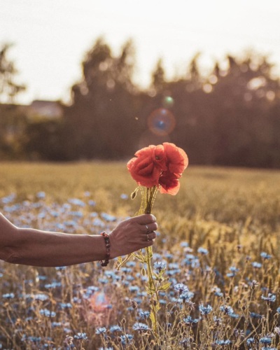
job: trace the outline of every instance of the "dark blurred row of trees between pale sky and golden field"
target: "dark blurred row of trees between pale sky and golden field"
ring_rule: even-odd
[[[14,67],[7,73],[7,50],[0,50],[0,96],[6,89],[14,97],[24,87],[14,83]],[[15,104],[2,104],[1,158],[125,160],[169,141],[192,164],[280,168],[280,84],[267,57],[228,55],[226,66],[216,62],[205,75],[197,54],[172,79],[159,59],[145,89],[134,83],[135,57],[132,41],[113,55],[98,38],[71,87],[71,104],[61,104],[62,118],[30,120]]]

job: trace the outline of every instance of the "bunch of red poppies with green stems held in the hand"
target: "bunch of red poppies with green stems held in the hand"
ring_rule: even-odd
[[[151,214],[158,190],[160,193],[176,195],[180,188],[179,179],[186,167],[188,167],[188,156],[185,151],[169,142],[158,146],[151,145],[137,151],[135,157],[127,163],[127,169],[139,185],[132,193],[132,199],[136,197],[137,191],[141,190],[141,207],[137,214]],[[153,330],[156,332],[157,311],[160,309],[158,292],[167,290],[170,283],[163,278],[163,269],[158,274],[153,272],[151,246],[146,248],[146,254],[139,252],[132,255],[147,266],[146,290],[151,297],[150,318]],[[155,281],[158,281],[156,285]]]

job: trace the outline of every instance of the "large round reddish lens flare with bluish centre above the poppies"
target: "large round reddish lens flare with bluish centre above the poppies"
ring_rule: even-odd
[[[148,128],[153,134],[165,136],[174,130],[175,117],[168,109],[156,109],[148,117]]]

